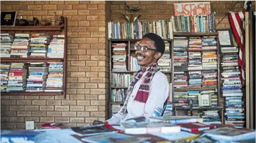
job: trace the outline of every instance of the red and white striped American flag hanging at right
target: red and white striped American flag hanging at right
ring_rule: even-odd
[[[231,28],[233,34],[235,35],[236,42],[239,46],[239,57],[238,57],[238,64],[241,67],[241,74],[240,80],[242,85],[244,86],[244,27],[245,27],[245,18],[244,15],[246,12],[250,11],[251,1],[245,1],[243,9],[236,13],[236,12],[229,12],[228,18],[231,23]]]

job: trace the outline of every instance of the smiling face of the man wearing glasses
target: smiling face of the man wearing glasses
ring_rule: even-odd
[[[157,54],[159,54],[159,52],[155,51],[156,48],[154,46],[153,40],[150,40],[149,38],[145,37],[140,41],[139,46],[147,46],[148,48],[146,52],[142,51],[141,48],[140,50],[136,50],[136,59],[138,61],[139,66],[147,67],[152,65],[154,62],[157,62],[155,56],[157,58]]]

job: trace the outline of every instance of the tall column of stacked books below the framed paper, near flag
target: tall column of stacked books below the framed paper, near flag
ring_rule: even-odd
[[[225,97],[225,124],[244,126],[244,101],[237,47],[221,47],[221,89]]]

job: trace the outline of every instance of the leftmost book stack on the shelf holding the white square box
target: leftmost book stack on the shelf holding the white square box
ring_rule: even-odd
[[[187,92],[173,92],[173,103],[175,107],[188,105]]]

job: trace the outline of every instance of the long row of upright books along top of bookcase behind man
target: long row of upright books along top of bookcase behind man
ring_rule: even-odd
[[[156,33],[163,39],[173,39],[173,32],[216,32],[216,12],[207,16],[172,16],[158,21],[107,23],[110,39],[141,39],[146,33]]]

